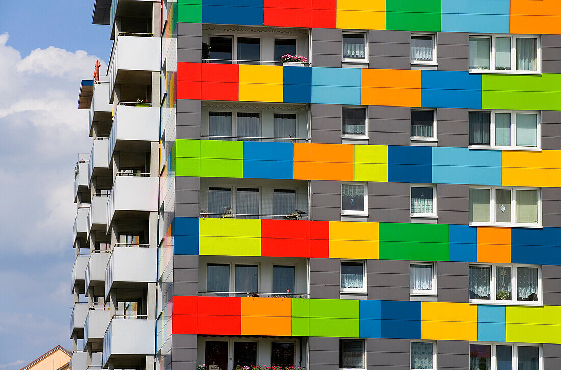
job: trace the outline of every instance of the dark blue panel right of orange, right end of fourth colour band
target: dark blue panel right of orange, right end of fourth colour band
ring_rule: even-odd
[[[561,265],[561,228],[511,228],[511,262]]]

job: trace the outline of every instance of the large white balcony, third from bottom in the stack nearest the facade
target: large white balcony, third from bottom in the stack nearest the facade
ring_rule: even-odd
[[[142,215],[158,211],[158,178],[142,173],[117,173],[107,202],[107,232],[124,212]]]

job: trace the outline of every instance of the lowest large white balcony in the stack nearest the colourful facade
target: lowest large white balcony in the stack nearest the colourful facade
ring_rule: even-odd
[[[155,249],[155,248],[152,248]],[[155,320],[128,320],[122,316],[113,316],[103,336],[103,368],[109,360],[139,360],[146,355],[154,355]],[[115,368],[121,364],[116,364]]]

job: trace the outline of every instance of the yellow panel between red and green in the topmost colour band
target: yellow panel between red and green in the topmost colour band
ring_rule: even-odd
[[[337,0],[337,28],[385,30],[386,0]]]

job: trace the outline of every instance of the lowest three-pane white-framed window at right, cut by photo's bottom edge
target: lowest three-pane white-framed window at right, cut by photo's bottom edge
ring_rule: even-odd
[[[470,370],[542,370],[541,346],[470,344]]]

